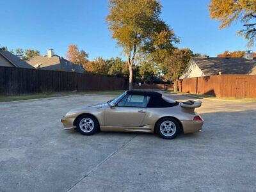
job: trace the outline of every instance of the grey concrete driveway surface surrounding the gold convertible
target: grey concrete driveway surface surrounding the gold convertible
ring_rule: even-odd
[[[255,191],[256,102],[203,100],[203,131],[175,140],[63,130],[68,109],[112,98],[0,104],[0,191]]]

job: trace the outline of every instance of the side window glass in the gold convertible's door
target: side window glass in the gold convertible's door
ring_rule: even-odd
[[[145,97],[143,95],[126,95],[120,102],[118,102],[119,107],[147,107],[150,97]]]

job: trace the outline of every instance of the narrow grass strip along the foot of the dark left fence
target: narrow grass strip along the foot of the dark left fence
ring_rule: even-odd
[[[38,93],[31,95],[17,95],[17,96],[3,96],[0,95],[0,102],[9,102],[17,100],[28,100],[28,99],[43,99],[50,97],[62,97],[70,95],[86,95],[86,94],[97,94],[97,95],[120,95],[124,93],[124,90],[116,91],[101,91],[101,92],[59,92],[59,93]]]

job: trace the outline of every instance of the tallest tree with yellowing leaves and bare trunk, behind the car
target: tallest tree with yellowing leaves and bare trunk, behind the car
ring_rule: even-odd
[[[178,42],[172,29],[162,19],[161,4],[156,0],[109,0],[106,21],[112,38],[123,48],[129,67],[129,89],[138,54],[169,51]],[[161,52],[162,54],[163,52]]]

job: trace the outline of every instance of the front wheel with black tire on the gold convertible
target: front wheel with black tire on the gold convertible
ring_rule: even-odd
[[[79,118],[77,118],[76,120],[76,129],[83,135],[92,135],[95,132],[99,131],[99,127],[99,122],[92,115],[82,115],[79,116]]]

